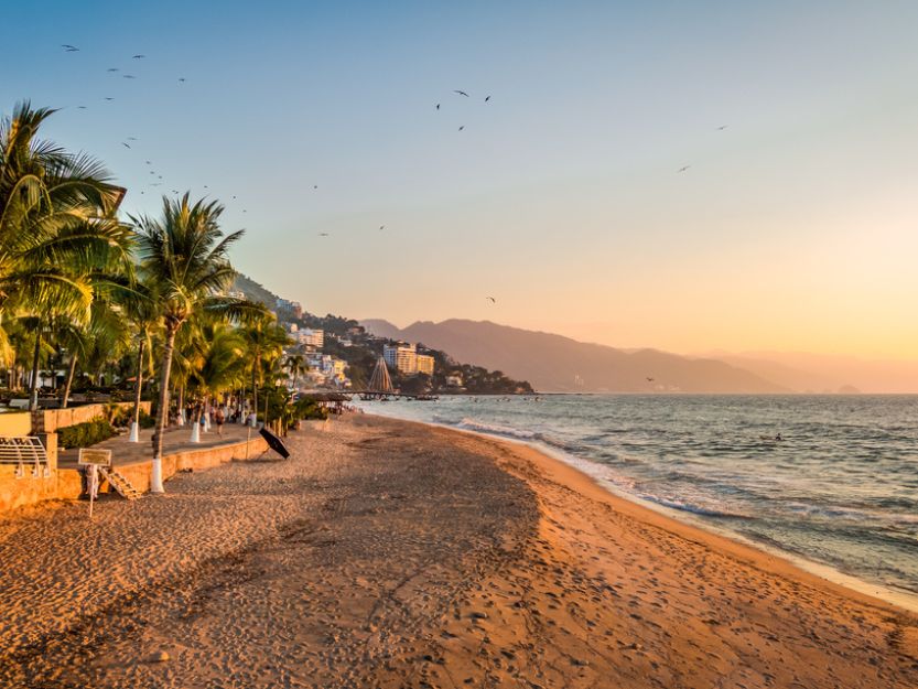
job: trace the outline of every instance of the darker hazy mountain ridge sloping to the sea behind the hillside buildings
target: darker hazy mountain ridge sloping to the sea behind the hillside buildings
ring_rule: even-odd
[[[382,320],[367,320],[361,324],[379,336],[420,342],[458,360],[529,380],[540,391],[791,391],[713,358],[691,358],[657,349],[616,349],[489,321],[419,321],[406,329]]]

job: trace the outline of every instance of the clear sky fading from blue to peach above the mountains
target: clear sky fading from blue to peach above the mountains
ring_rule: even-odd
[[[918,358],[914,1],[133,4],[4,8],[0,109],[310,311]]]

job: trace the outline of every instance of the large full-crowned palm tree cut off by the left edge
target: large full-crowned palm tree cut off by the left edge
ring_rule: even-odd
[[[53,114],[24,101],[0,121],[0,319],[32,316],[35,353],[52,319],[88,322],[90,274],[130,250],[114,218],[125,191],[95,159],[36,138]],[[33,408],[36,385],[33,356]]]

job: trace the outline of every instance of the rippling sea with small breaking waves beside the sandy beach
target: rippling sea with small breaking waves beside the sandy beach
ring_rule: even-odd
[[[360,405],[547,446],[634,497],[918,594],[918,396],[462,396]]]

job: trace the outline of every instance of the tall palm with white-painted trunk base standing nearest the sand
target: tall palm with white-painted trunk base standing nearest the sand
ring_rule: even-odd
[[[163,197],[159,219],[131,218],[138,233],[141,281],[149,288],[163,322],[150,487],[153,493],[163,492],[162,446],[169,419],[169,383],[175,336],[182,325],[204,311],[233,319],[264,312],[249,302],[220,297],[236,274],[228,249],[242,236],[242,230],[223,234],[218,224],[222,213],[223,206],[217,202],[202,200],[192,204],[186,193],[176,201]]]

